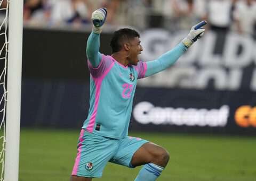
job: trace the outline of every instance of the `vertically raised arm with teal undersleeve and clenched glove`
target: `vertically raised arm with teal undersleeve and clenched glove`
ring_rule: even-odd
[[[107,9],[102,7],[92,13],[93,28],[92,33],[87,40],[86,55],[94,68],[98,67],[102,56],[99,52],[100,33],[107,18]]]

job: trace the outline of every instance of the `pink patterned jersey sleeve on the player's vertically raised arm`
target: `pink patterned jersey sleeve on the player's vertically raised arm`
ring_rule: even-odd
[[[111,58],[109,58],[108,56],[106,56],[104,54],[101,54],[101,55],[102,55],[102,59],[97,68],[92,67],[89,60],[87,61],[89,71],[94,78],[101,77],[106,72],[106,70],[111,65],[111,63],[113,62],[113,60]]]

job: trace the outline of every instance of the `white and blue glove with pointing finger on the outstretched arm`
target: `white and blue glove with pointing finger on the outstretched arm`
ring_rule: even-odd
[[[197,25],[194,25],[188,33],[188,36],[181,41],[182,44],[189,48],[197,39],[200,39],[204,35],[203,25],[206,23],[206,21],[202,21]]]

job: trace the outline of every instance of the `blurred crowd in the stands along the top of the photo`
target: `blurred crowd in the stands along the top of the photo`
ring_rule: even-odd
[[[108,10],[106,26],[180,30],[206,20],[208,29],[255,36],[256,0],[24,0],[23,22],[81,28],[91,24],[92,12],[100,7]]]

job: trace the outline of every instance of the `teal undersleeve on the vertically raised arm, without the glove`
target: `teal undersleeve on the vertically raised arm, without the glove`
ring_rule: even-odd
[[[92,32],[87,40],[86,55],[93,68],[100,65],[102,55],[99,52],[100,34]]]

